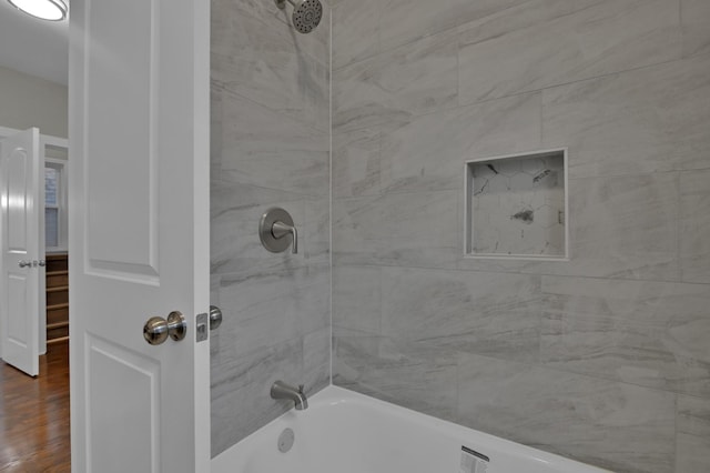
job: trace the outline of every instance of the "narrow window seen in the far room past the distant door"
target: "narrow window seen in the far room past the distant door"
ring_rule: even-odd
[[[44,163],[44,246],[67,249],[65,163],[47,159]]]

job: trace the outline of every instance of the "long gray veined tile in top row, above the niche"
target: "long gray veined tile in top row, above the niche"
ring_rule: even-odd
[[[679,59],[678,2],[535,0],[467,24],[462,103]]]

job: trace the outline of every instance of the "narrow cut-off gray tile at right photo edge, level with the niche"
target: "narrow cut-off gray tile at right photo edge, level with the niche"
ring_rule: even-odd
[[[710,154],[708,154],[710,161]],[[710,170],[680,174],[682,280],[710,283]]]

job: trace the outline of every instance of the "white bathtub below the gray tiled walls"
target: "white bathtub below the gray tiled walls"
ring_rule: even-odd
[[[215,456],[212,473],[609,473],[336,386],[308,404]]]

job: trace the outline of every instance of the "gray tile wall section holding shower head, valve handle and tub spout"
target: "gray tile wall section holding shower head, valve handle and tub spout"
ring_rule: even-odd
[[[212,454],[281,415],[282,379],[329,383],[329,8],[303,36],[273,1],[212,1]],[[282,207],[300,253],[270,253],[257,225]]]

